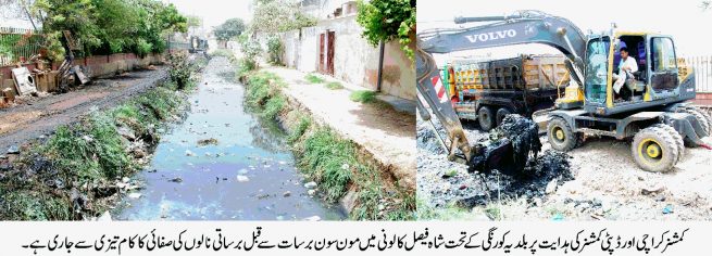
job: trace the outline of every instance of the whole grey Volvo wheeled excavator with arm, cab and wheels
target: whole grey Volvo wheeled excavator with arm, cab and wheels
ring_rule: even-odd
[[[710,149],[701,138],[712,132],[712,119],[688,102],[696,93],[694,71],[678,62],[671,36],[615,25],[584,34],[566,18],[534,10],[455,17],[454,23],[461,27],[419,33],[415,54],[419,113],[433,124],[432,112],[442,125],[447,140],[436,135],[450,161],[487,171],[508,165],[512,145],[469,143],[432,54],[525,43],[550,46],[566,59],[571,81],[544,113],[554,150],[571,151],[585,136],[632,138],[635,163],[644,170],[664,172],[674,168],[686,145]],[[622,49],[634,57],[638,72],[619,68]]]

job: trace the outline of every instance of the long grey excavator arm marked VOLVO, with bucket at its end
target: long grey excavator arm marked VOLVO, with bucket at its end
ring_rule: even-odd
[[[505,162],[511,157],[511,144],[503,143],[496,149],[471,145],[462,129],[462,124],[446,93],[432,53],[449,53],[501,46],[544,43],[551,46],[567,57],[567,68],[572,78],[583,85],[583,57],[586,53],[587,38],[570,21],[552,16],[538,11],[520,11],[511,16],[489,17],[458,17],[455,23],[495,22],[482,26],[437,29],[419,34],[415,52],[419,111],[421,117],[433,124],[429,108],[440,121],[447,133],[447,140],[440,138],[435,130],[441,145],[448,152],[450,161],[483,166],[497,166],[496,162]],[[427,106],[427,108],[426,108]],[[435,129],[435,127],[433,127]],[[446,142],[449,141],[448,145]],[[492,154],[492,152],[496,152]],[[476,161],[474,161],[476,159]],[[478,163],[474,163],[478,162]]]

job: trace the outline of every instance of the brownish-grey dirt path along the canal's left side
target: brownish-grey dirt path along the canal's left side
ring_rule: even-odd
[[[32,98],[11,108],[0,110],[0,154],[12,145],[49,135],[57,126],[75,121],[92,111],[118,104],[155,86],[167,77],[166,68],[137,71],[110,79],[99,79],[82,89],[43,98]]]

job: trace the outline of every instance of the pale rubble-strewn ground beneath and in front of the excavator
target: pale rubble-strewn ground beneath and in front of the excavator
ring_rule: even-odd
[[[436,142],[427,139],[432,133],[426,124],[420,118],[417,123],[417,194],[436,208],[457,207],[474,219],[712,219],[712,151],[702,148],[687,148],[671,172],[653,174],[635,165],[629,142],[587,138],[569,153],[573,180],[552,177],[546,183],[521,182],[529,188],[514,190],[509,177],[482,179],[467,174],[464,165],[448,162]],[[474,124],[465,128],[471,143],[487,137]],[[550,149],[546,137],[540,141],[542,151]],[[704,141],[712,142],[709,137]],[[444,177],[455,174],[452,170],[455,176]],[[489,194],[473,189],[483,188],[483,180]]]

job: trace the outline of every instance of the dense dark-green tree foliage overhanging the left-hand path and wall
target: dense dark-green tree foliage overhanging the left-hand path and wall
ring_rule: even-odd
[[[157,0],[37,0],[34,12],[46,14],[42,27],[54,39],[70,30],[80,55],[162,52],[163,35],[187,31],[187,18]],[[57,47],[51,50],[58,55]]]

